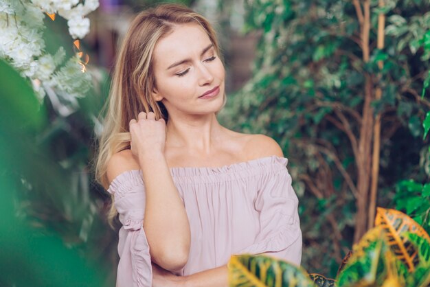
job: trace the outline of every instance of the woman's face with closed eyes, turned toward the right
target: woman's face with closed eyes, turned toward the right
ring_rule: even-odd
[[[153,96],[169,115],[205,115],[223,106],[224,66],[199,24],[174,27],[157,42],[153,57]]]

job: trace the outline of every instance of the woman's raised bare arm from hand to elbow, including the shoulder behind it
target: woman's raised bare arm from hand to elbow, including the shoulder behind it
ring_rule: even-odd
[[[144,229],[150,256],[162,268],[179,271],[188,261],[190,225],[183,201],[173,183],[164,157],[166,124],[153,113],[139,114],[130,124],[131,150],[109,160],[109,182],[126,170],[143,172],[145,185]],[[143,208],[143,207],[142,207]]]

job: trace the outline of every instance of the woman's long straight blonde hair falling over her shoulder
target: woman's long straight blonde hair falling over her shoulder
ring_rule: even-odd
[[[126,33],[113,69],[109,100],[104,108],[104,129],[95,161],[95,178],[104,188],[109,185],[106,175],[109,159],[116,152],[130,148],[128,124],[131,119],[136,119],[141,111],[152,111],[156,119],[168,121],[166,108],[151,95],[155,87],[152,54],[161,37],[172,32],[174,25],[185,23],[201,25],[220,56],[216,34],[210,23],[182,5],[164,4],[144,10],[136,16]],[[110,222],[116,214],[112,204]]]

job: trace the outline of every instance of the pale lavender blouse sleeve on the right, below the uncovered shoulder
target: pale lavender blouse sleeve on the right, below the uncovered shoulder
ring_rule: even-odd
[[[255,208],[260,212],[260,231],[251,246],[236,254],[269,253],[299,265],[302,259],[302,231],[297,205],[299,200],[286,169],[287,159],[273,157],[273,163],[260,178]]]

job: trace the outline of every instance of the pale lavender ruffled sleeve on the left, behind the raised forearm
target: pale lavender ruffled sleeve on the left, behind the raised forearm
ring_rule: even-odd
[[[146,197],[141,172],[131,170],[120,174],[113,180],[108,192],[114,195],[114,204],[122,223],[116,286],[150,287],[152,266],[143,229]]]

